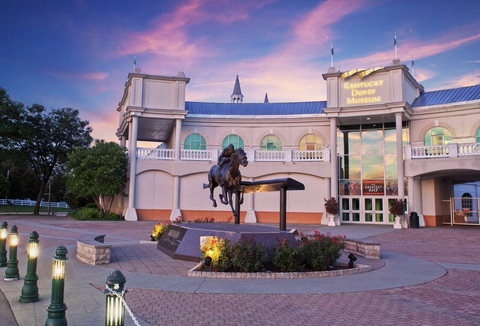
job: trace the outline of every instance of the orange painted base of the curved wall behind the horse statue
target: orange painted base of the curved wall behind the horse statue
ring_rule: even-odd
[[[137,217],[140,221],[167,221],[170,219],[171,210],[168,209],[137,209]],[[196,218],[213,217],[217,222],[227,221],[233,217],[230,211],[206,211],[206,210],[181,210],[184,221],[193,221]],[[246,211],[240,212],[240,222],[245,222]],[[278,212],[255,212],[258,223],[278,223]],[[287,223],[295,224],[320,224],[322,213],[287,212]]]

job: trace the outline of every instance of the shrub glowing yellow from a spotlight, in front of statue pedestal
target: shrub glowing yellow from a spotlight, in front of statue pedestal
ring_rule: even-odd
[[[202,250],[202,260],[208,256],[212,258],[212,270],[215,272],[224,272],[232,266],[232,245],[230,240],[220,238],[217,236],[206,237],[203,245],[200,246]]]

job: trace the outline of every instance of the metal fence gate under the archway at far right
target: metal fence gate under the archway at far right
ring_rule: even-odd
[[[444,224],[480,225],[480,198],[462,197],[442,200]]]

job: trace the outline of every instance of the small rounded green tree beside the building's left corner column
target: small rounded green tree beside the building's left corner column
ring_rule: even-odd
[[[123,193],[127,178],[126,148],[97,140],[90,148],[77,147],[68,156],[67,189],[79,197],[92,196],[103,214],[108,214],[116,194]]]

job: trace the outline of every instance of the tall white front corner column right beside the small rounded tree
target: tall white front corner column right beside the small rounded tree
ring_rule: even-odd
[[[130,159],[130,186],[128,190],[128,208],[125,213],[127,221],[136,221],[137,212],[135,211],[135,177],[137,171],[137,136],[138,136],[138,117],[132,116],[132,123],[129,128],[132,133],[128,135],[128,156]]]

